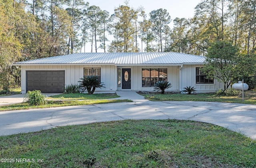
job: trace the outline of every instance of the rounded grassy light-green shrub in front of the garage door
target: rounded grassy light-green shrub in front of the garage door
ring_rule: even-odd
[[[29,105],[44,105],[47,104],[46,97],[40,90],[28,91],[23,102],[28,102]]]

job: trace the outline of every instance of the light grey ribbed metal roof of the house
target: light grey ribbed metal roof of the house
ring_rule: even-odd
[[[14,63],[26,64],[202,64],[205,57],[182,53],[75,53]]]

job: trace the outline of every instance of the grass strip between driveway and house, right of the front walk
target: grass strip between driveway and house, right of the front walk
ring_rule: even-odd
[[[151,101],[202,101],[202,102],[227,102],[227,103],[243,103],[256,105],[256,91],[248,90],[244,92],[244,102],[242,96],[218,96],[214,93],[202,94],[160,94],[150,93],[141,94]]]

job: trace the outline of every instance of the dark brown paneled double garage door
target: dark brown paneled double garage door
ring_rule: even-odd
[[[42,93],[63,93],[64,70],[27,70],[26,92],[40,90]]]

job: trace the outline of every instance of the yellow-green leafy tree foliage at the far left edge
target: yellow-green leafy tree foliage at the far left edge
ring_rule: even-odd
[[[0,0],[0,88],[9,90],[15,82],[12,64],[24,55],[24,44],[29,40],[32,17],[24,4]],[[24,37],[27,35],[26,37]]]

